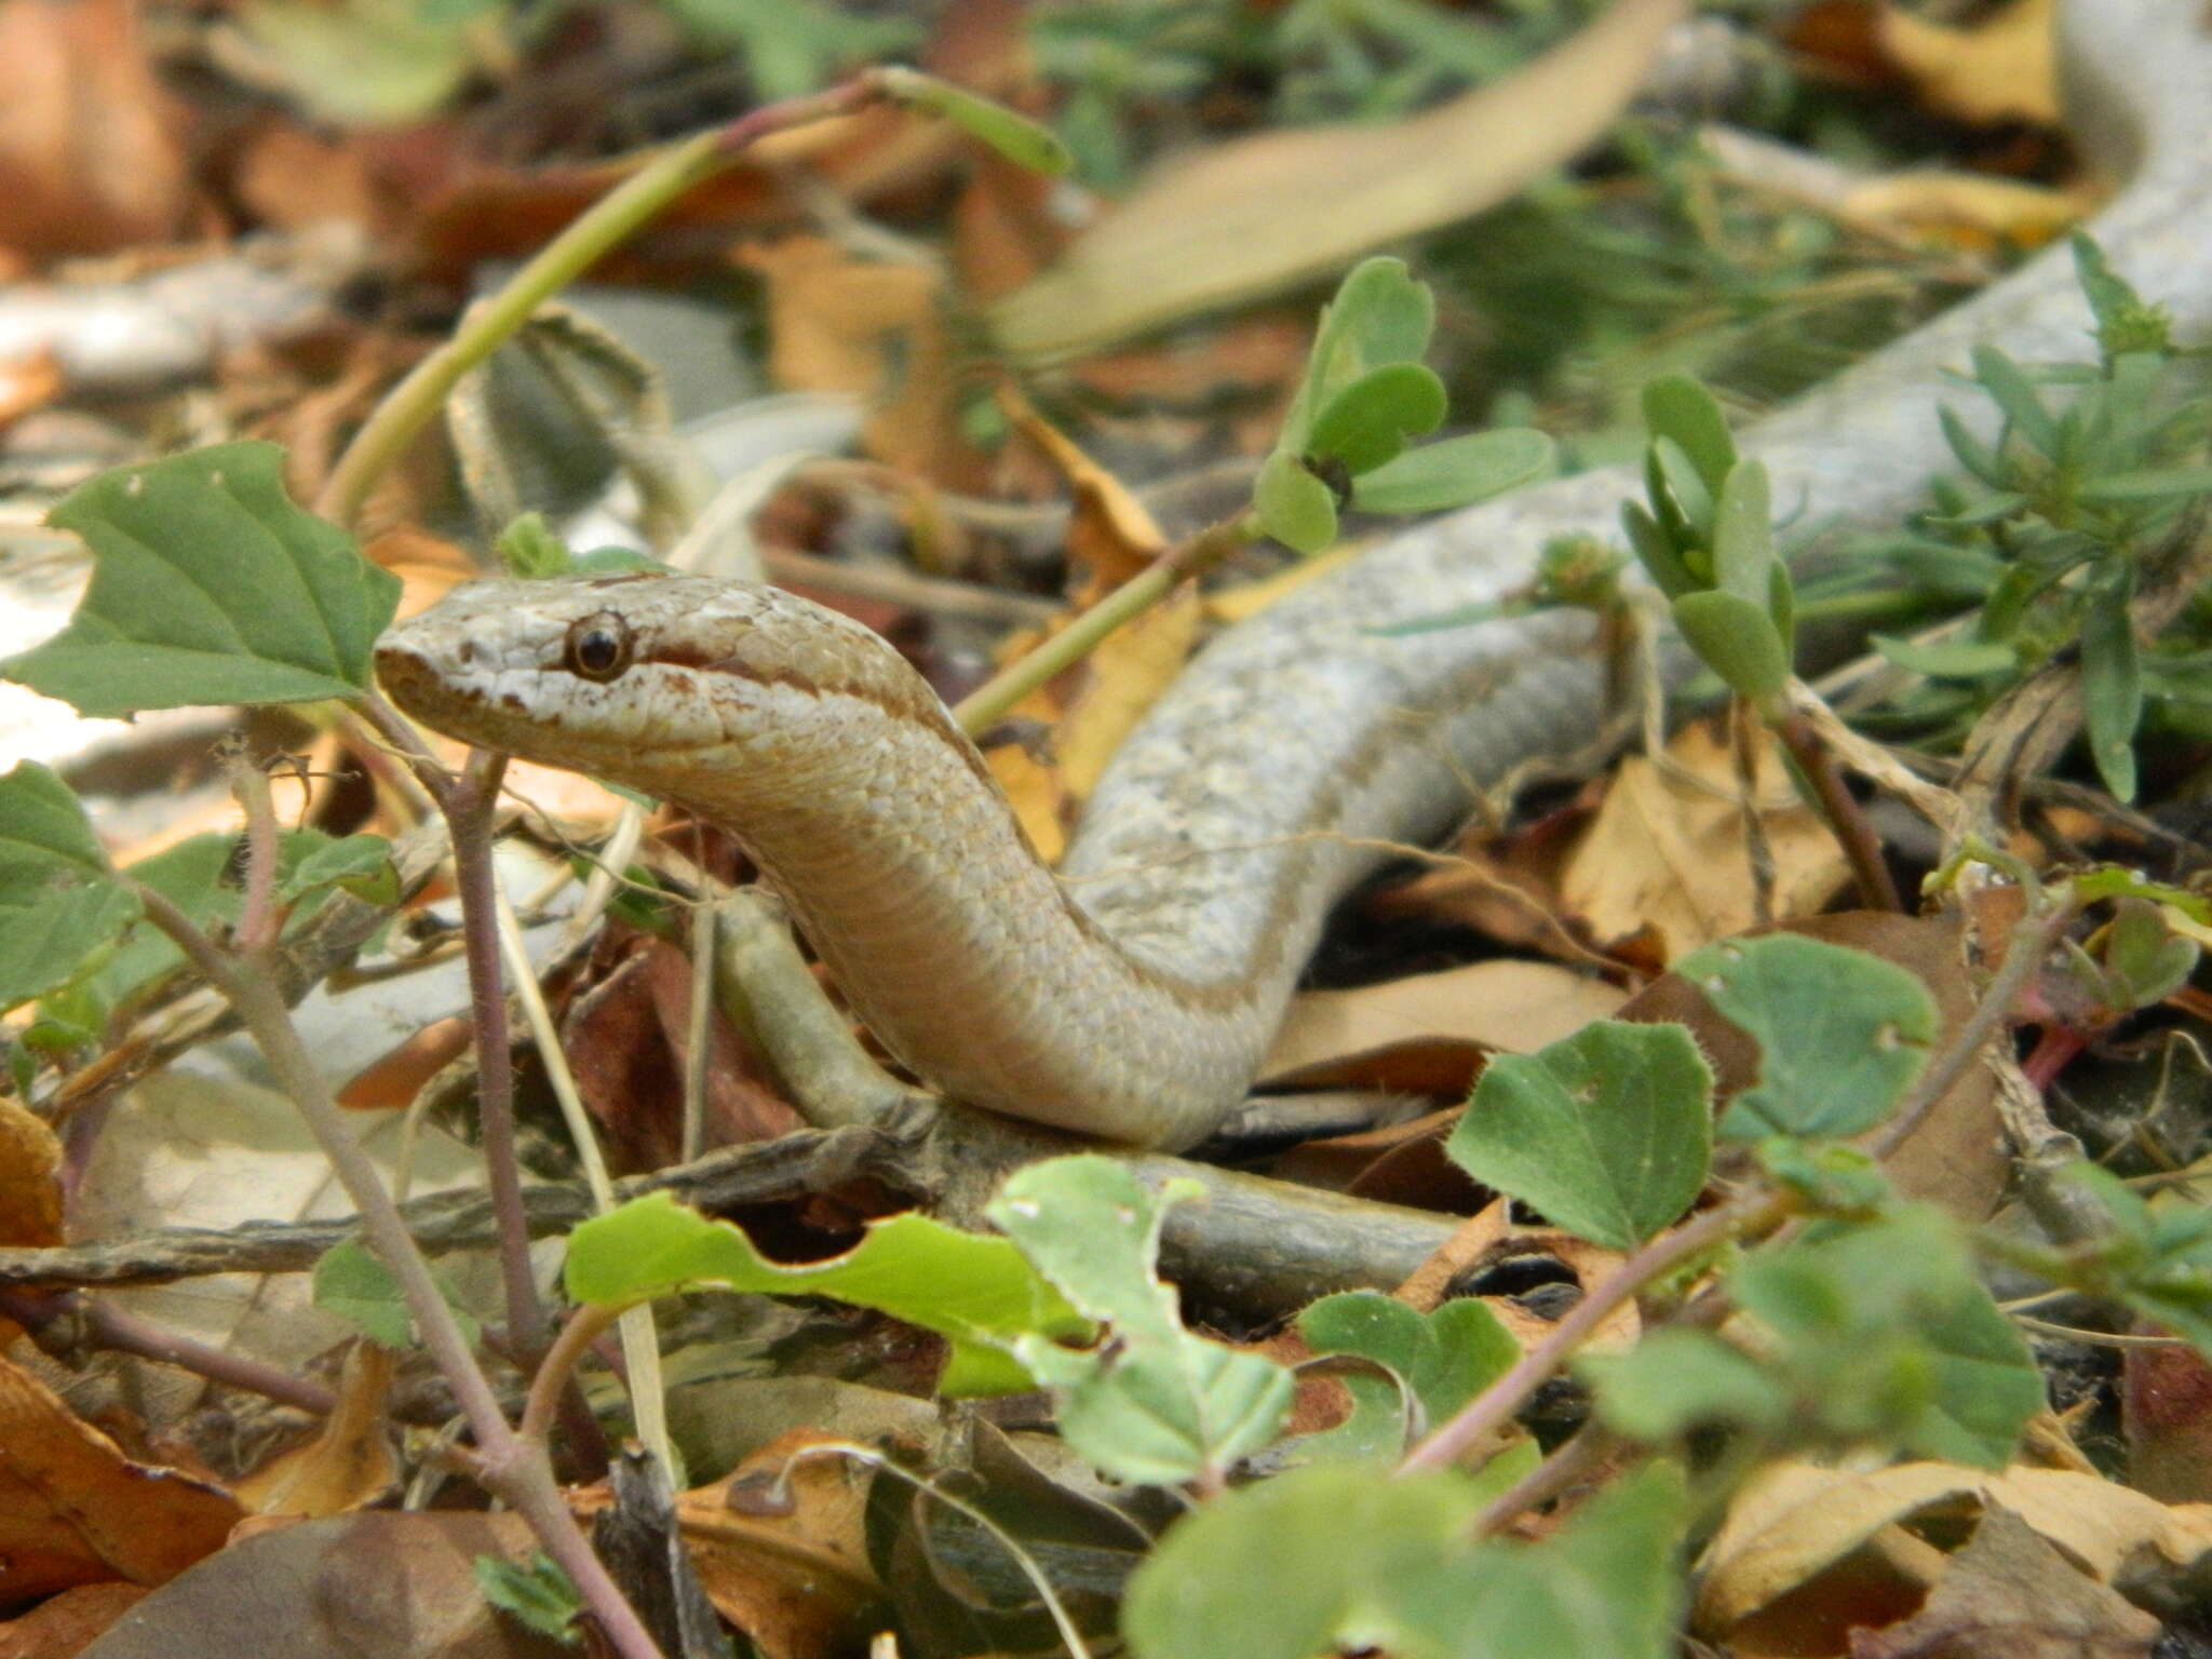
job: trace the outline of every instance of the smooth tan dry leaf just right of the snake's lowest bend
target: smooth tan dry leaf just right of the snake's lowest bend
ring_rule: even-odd
[[[1535,1053],[1606,1020],[1626,995],[1551,962],[1473,962],[1356,991],[1305,991],[1261,1064],[1261,1084],[1369,1060],[1405,1044],[1451,1042],[1482,1053]]]

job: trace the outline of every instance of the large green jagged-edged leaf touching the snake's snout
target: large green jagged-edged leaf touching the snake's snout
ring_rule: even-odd
[[[398,577],[294,507],[281,469],[276,445],[234,442],[80,484],[46,518],[91,546],[93,582],[0,677],[84,714],[363,690]]]

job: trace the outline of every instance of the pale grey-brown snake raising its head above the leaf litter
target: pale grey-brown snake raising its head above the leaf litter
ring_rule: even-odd
[[[2064,0],[2086,226],[2183,334],[2212,323],[2212,38],[2197,4]],[[1750,422],[1818,555],[1927,500],[1973,345],[2064,361],[2093,330],[2064,248]],[[1389,843],[1604,723],[1590,613],[1389,633],[1506,602],[1559,535],[1608,538],[1628,469],[1416,524],[1223,630],[1159,697],[1046,869],[982,754],[878,635],[699,575],[471,582],[376,646],[411,717],[728,830],[849,1006],[967,1106],[1152,1148],[1248,1095],[1329,907]]]

